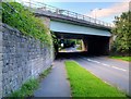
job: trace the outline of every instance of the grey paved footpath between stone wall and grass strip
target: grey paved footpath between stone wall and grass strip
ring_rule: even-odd
[[[70,97],[70,85],[67,79],[64,63],[61,60],[55,61],[51,73],[40,83],[39,88],[34,92],[35,97]]]

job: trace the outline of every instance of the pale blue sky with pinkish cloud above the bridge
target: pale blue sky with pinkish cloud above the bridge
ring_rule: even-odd
[[[115,16],[129,10],[130,0],[21,0],[23,2],[44,2],[46,4],[73,11],[100,21],[112,23]]]

